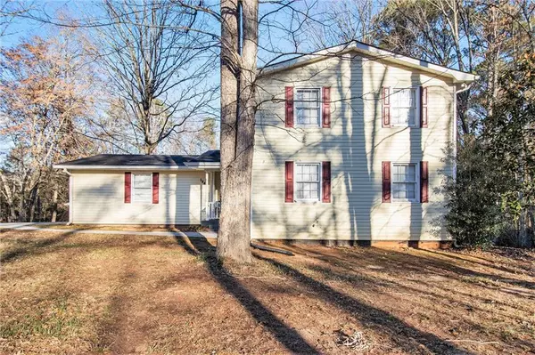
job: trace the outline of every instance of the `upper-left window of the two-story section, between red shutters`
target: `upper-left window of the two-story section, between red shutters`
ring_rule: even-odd
[[[296,125],[319,127],[321,123],[321,90],[319,88],[295,89],[293,101]]]

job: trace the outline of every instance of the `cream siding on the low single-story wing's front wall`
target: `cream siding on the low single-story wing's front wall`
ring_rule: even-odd
[[[141,172],[140,172],[141,173]],[[149,175],[152,172],[144,172]],[[124,171],[73,171],[72,222],[102,224],[199,224],[208,197],[205,172],[160,172],[159,203],[125,203]],[[151,195],[152,196],[152,195]],[[152,199],[151,199],[152,201]]]

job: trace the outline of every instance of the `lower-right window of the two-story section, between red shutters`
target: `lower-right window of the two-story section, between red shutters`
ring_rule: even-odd
[[[393,201],[418,202],[418,191],[418,165],[416,163],[393,163]]]

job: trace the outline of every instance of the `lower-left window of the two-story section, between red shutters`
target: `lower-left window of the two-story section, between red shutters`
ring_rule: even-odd
[[[295,199],[297,201],[319,201],[320,170],[319,163],[295,163]]]

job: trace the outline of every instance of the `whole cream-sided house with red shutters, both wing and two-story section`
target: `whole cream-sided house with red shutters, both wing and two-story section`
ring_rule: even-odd
[[[351,42],[259,69],[251,238],[448,239],[457,92],[475,77]],[[101,155],[70,173],[70,222],[218,218],[218,151]]]

